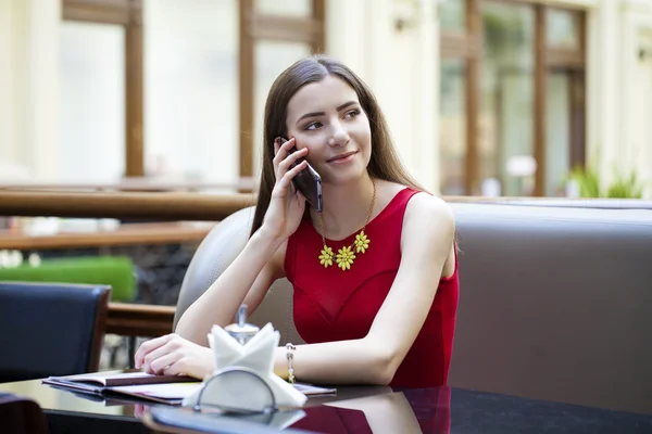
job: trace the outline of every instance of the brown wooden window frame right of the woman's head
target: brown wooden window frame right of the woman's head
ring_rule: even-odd
[[[537,162],[535,174],[535,196],[546,193],[546,140],[547,140],[547,81],[551,69],[562,69],[569,74],[570,167],[586,164],[586,58],[587,58],[587,12],[580,8],[551,7],[540,0],[465,0],[465,23],[463,31],[441,30],[439,52],[441,59],[459,59],[465,62],[465,104],[466,104],[466,152],[464,173],[464,194],[473,194],[479,179],[478,120],[480,110],[480,72],[482,56],[481,5],[490,3],[528,4],[535,12],[535,71],[534,71],[534,157]],[[568,11],[576,14],[578,48],[560,49],[548,47],[547,15],[550,10]]]

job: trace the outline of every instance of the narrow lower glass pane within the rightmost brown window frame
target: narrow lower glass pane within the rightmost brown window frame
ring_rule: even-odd
[[[564,195],[570,169],[570,85],[567,74],[548,74],[546,100],[546,190],[544,195]]]

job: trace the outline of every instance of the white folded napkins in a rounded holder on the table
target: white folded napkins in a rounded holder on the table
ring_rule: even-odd
[[[201,395],[200,406],[210,403],[231,409],[261,408],[268,401],[269,390],[274,394],[277,407],[298,408],[305,404],[308,397],[303,393],[274,373],[274,353],[280,334],[271,323],[263,327],[244,345],[218,326],[213,326],[208,337],[215,357],[215,372],[204,380],[202,388],[184,399],[184,406],[197,405]],[[215,378],[228,368],[253,371],[268,388],[252,375],[225,373],[218,379]],[[210,386],[206,387],[206,384]]]

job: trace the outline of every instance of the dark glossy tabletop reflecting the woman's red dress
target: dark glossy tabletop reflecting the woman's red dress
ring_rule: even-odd
[[[141,420],[143,414],[148,419],[147,416],[155,411],[149,405],[91,399],[41,384],[40,380],[0,384],[0,392],[30,397],[39,403],[47,413],[52,434],[152,432]],[[337,396],[309,399],[303,412],[290,430],[323,433],[652,433],[650,414],[454,387],[338,387]]]

